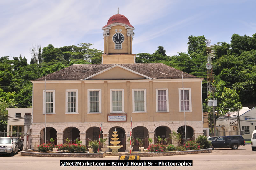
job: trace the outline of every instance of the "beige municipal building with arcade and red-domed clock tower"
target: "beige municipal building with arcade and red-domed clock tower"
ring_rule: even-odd
[[[187,138],[203,135],[203,79],[162,63],[135,63],[134,27],[125,18],[116,14],[103,27],[102,64],[72,65],[47,75],[46,81],[31,81],[32,148],[45,140],[45,113],[46,140],[54,138],[57,144],[79,138],[87,145],[101,133],[109,145],[116,129],[121,151],[128,149],[132,117],[132,137],[147,147],[148,138],[154,143],[158,136],[169,138],[173,130],[184,135],[184,110]]]

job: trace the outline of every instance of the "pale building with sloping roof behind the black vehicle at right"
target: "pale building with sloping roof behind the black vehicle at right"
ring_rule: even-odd
[[[240,135],[240,127],[244,139],[251,139],[252,132],[256,129],[256,108],[249,109],[243,107],[239,110],[240,123],[238,121],[238,111],[229,112],[216,119],[217,136]]]

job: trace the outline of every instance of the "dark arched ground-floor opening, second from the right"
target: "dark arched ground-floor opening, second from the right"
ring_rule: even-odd
[[[155,143],[158,141],[158,137],[162,138],[162,144],[167,145],[172,143],[172,138],[170,136],[171,130],[167,126],[159,126],[155,129]]]

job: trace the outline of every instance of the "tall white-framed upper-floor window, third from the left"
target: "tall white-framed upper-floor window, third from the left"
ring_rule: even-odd
[[[88,89],[87,96],[87,113],[101,113],[101,89]]]

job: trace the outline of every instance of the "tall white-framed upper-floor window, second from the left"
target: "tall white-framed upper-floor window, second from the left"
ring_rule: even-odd
[[[66,90],[66,114],[78,114],[78,90]]]

